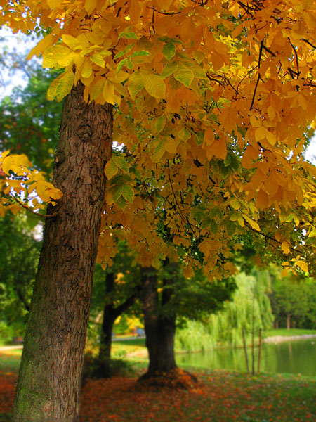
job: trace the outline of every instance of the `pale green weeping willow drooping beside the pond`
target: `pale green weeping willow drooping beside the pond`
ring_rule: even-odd
[[[270,276],[268,271],[244,273],[236,277],[237,290],[232,302],[218,314],[209,316],[206,324],[187,321],[185,328],[176,335],[176,350],[192,352],[213,347],[241,346],[242,330],[250,341],[251,333],[272,327],[273,315],[268,292]]]

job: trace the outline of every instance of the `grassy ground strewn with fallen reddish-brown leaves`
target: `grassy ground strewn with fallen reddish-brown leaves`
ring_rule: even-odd
[[[0,422],[11,421],[19,359],[18,354],[1,354]],[[137,378],[88,380],[81,395],[80,422],[316,420],[315,379],[191,372],[199,383],[188,390],[142,386]]]

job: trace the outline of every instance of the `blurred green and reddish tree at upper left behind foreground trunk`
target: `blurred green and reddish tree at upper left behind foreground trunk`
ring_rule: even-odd
[[[24,57],[26,62],[26,58]],[[20,62],[22,63],[20,57]],[[58,141],[62,105],[48,101],[46,93],[58,72],[37,63],[28,68],[25,88],[13,89],[0,103],[0,151],[27,154],[38,169],[51,173]]]

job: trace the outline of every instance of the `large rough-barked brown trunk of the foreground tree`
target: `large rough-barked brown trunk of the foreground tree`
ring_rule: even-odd
[[[15,394],[15,422],[78,420],[93,269],[112,151],[112,106],[65,98],[48,214]]]

